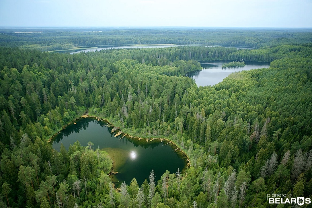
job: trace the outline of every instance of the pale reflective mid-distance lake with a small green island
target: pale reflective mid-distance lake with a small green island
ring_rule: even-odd
[[[189,72],[186,75],[193,78],[196,81],[197,86],[213,86],[232,74],[233,72],[240,72],[244,70],[269,68],[268,62],[250,62],[244,61],[246,66],[244,67],[226,67],[222,68],[223,63],[231,61],[209,61],[201,62],[202,70]]]

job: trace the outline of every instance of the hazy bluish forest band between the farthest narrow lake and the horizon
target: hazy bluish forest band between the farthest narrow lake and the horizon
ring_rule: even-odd
[[[0,46],[41,51],[141,44],[269,47],[311,42],[305,28],[0,28]]]

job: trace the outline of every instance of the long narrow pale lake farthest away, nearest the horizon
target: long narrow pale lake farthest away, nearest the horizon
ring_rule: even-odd
[[[205,46],[205,47],[219,47],[215,45],[178,45],[178,44],[158,44],[158,45],[126,45],[126,46],[107,46],[107,47],[92,47],[85,48],[79,51],[71,52],[70,54],[80,53],[80,52],[90,52],[90,51],[101,51],[106,49],[120,49],[120,48],[166,48],[166,47],[176,47],[176,46]],[[224,47],[224,46],[223,46]],[[232,46],[229,46],[232,47]],[[235,47],[236,49],[254,49],[252,47]],[[66,52],[66,51],[65,51]]]

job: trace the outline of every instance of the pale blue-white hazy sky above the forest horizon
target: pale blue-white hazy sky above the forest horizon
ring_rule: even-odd
[[[312,0],[0,0],[0,26],[312,27]]]

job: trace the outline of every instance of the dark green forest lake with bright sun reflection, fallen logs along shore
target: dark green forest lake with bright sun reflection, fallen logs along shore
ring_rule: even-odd
[[[75,124],[75,123],[76,124]],[[136,178],[139,185],[148,179],[152,170],[155,172],[155,180],[158,181],[163,173],[168,170],[176,173],[178,168],[182,171],[187,166],[187,156],[169,141],[155,139],[147,142],[111,133],[113,127],[106,126],[107,121],[98,121],[95,118],[80,118],[66,126],[53,137],[51,144],[54,149],[60,151],[61,143],[66,150],[74,142],[79,141],[81,146],[87,146],[88,142],[94,143],[93,148],[100,148],[108,152],[114,161],[113,168],[118,172],[112,178],[115,186],[125,181],[128,185]]]

